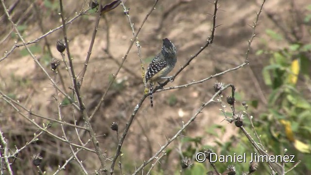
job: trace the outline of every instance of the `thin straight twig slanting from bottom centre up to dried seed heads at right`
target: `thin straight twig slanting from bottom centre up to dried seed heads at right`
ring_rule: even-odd
[[[140,167],[133,173],[133,175],[137,175],[138,172],[140,170],[142,170],[143,167],[145,167],[148,163],[150,163],[153,159],[155,159],[155,157],[157,157],[173,140],[175,140],[178,136],[181,135],[181,133],[184,131],[184,129],[186,129],[186,127],[192,123],[196,117],[202,113],[201,111],[207,106],[209,105],[210,103],[214,102],[214,99],[215,97],[217,97],[222,91],[224,91],[226,88],[229,88],[233,86],[232,84],[228,84],[226,85],[224,88],[221,88],[218,92],[216,92],[206,103],[203,103],[202,106],[196,111],[196,113],[190,118],[190,120],[183,124],[181,129],[171,138],[171,139],[168,139],[168,141],[163,145],[161,146],[161,148],[155,153],[155,155],[151,158],[149,158],[147,161],[144,161],[144,163],[142,165],[140,165]]]

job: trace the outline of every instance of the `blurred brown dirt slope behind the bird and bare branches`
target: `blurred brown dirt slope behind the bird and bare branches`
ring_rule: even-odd
[[[10,13],[13,21],[19,20],[19,24],[25,26],[23,36],[26,41],[34,40],[50,29],[60,26],[58,1],[50,1],[52,5],[56,4],[55,7],[47,6],[44,0],[11,0],[5,1],[6,6],[13,7],[15,1],[18,3]],[[67,19],[73,18],[75,13],[79,13],[83,5],[85,5],[84,9],[88,7],[88,2],[84,4],[83,0],[66,0],[64,3]],[[154,0],[127,0],[125,2],[126,7],[130,8],[129,13],[136,31],[153,3]],[[216,23],[217,25],[221,24],[221,26],[216,29],[214,43],[199,54],[167,87],[201,80],[241,64],[244,61],[248,39],[252,34],[252,28],[249,25],[252,25],[255,20],[260,3],[261,0],[220,0],[220,10]],[[214,94],[213,84],[216,81],[225,84],[233,83],[236,86],[239,97],[237,104],[241,104],[242,101],[258,99],[258,109],[252,109],[255,115],[260,109],[264,109],[269,91],[263,84],[261,69],[267,63],[268,58],[256,56],[255,52],[264,45],[276,49],[282,47],[270,42],[269,37],[265,34],[266,29],[281,32],[280,26],[276,26],[276,23],[268,18],[267,12],[273,14],[273,18],[276,20],[287,24],[287,28],[291,28],[294,23],[291,21],[291,13],[289,12],[294,9],[299,12],[298,14],[303,14],[304,7],[308,4],[310,4],[309,0],[297,0],[294,3],[291,0],[267,0],[259,19],[256,32],[258,37],[252,43],[249,66],[228,72],[202,84],[155,93],[153,109],[150,107],[148,98],[139,110],[123,144],[123,167],[124,170],[128,171],[123,173],[133,172],[134,167],[140,166],[142,160],[149,159],[160,148],[160,145],[166,142],[166,137],[172,137],[180,129],[182,121],[188,121],[199,108],[199,105],[209,100]],[[12,31],[12,26],[3,13],[3,8],[0,9],[0,53],[2,57],[6,51],[13,47],[17,36]],[[212,13],[213,4],[207,0],[184,0],[182,3],[179,0],[160,0],[138,35],[145,68],[153,56],[160,51],[162,38],[167,37],[172,40],[178,50],[178,61],[171,74],[175,73],[191,55],[195,54],[206,43],[212,26],[212,16],[209,14]],[[126,53],[131,42],[130,39],[133,37],[121,5],[106,13],[105,18],[106,21],[104,17],[100,21],[84,84],[81,88],[89,115],[99,102],[104,89],[108,86],[111,74],[117,70],[118,62],[121,62],[122,56]],[[96,14],[93,13],[78,18],[67,26],[69,48],[74,58],[76,73],[79,73],[84,65],[95,19]],[[42,22],[42,25],[39,21]],[[105,52],[107,50],[107,30],[109,30],[108,49],[110,55]],[[304,35],[303,31],[301,31],[301,35]],[[51,76],[53,76],[49,62],[51,56],[45,56],[48,53],[47,44],[51,47],[52,56],[61,59],[61,55],[55,47],[56,40],[61,38],[63,38],[62,31],[57,30],[33,44],[41,48],[35,55]],[[304,39],[304,37],[302,38]],[[21,42],[18,41],[18,43]],[[17,48],[0,62],[0,89],[28,109],[43,116],[57,119],[57,106],[53,100],[55,89],[42,70],[35,65],[31,56],[22,54],[23,50],[23,47]],[[117,145],[116,133],[110,129],[110,124],[112,122],[119,123],[119,134],[121,135],[125,123],[143,95],[141,67],[135,45],[123,67],[124,69],[121,69],[116,83],[108,92],[104,104],[92,120],[93,128],[98,136],[97,139],[100,141],[102,149],[107,150],[106,154],[109,158],[115,154]],[[60,65],[59,73],[65,80],[66,90],[70,92],[69,75],[64,64]],[[227,91],[224,96],[229,94]],[[64,99],[62,95],[60,98],[61,100]],[[80,116],[77,111],[72,113],[70,105],[62,108],[65,121],[73,123],[73,115],[78,122],[82,120],[79,119]],[[209,145],[213,145],[215,140],[224,141],[230,138],[231,135],[235,134],[235,128],[231,124],[222,122],[224,117],[219,108],[220,106],[217,104],[209,105],[183,135],[185,137],[203,136],[203,144]],[[27,114],[25,111],[23,113]],[[40,124],[46,122],[34,116],[30,117]],[[0,101],[0,123],[1,131],[9,139],[11,148],[14,148],[15,144],[17,147],[24,145],[26,141],[31,140],[34,132],[38,132],[33,125],[4,101]],[[222,132],[222,137],[215,138],[207,135],[207,128],[214,123],[225,125],[225,132]],[[54,134],[62,136],[59,125],[53,124],[50,130]],[[74,130],[66,127],[66,131],[72,142],[77,142]],[[215,132],[221,131],[215,130]],[[82,138],[86,141],[88,136],[84,135]],[[178,143],[178,140],[175,141],[170,148],[174,149]],[[92,148],[92,145],[88,144],[88,147]],[[16,163],[13,165],[17,174],[37,173],[31,163],[31,157],[36,153],[41,153],[43,157],[42,167],[48,173],[54,172],[58,165],[62,165],[66,158],[71,156],[66,144],[48,135],[43,135],[39,141],[29,146],[17,157]],[[82,151],[78,156],[85,161],[84,164],[90,172],[99,168],[100,163],[95,154]],[[172,157],[178,156],[178,153],[175,152]],[[170,163],[160,166],[170,172],[172,170],[168,167],[175,167],[179,163],[178,161],[178,158],[172,158]],[[107,164],[110,162],[107,161]],[[74,162],[70,163],[64,174],[79,172],[79,170],[75,170],[76,167]],[[116,167],[116,169],[118,168]]]

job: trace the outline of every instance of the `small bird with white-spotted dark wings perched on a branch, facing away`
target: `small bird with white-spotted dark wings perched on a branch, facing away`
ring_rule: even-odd
[[[160,53],[158,53],[152,62],[149,64],[149,67],[146,72],[146,82],[150,83],[150,103],[153,107],[153,85],[157,82],[161,88],[163,88],[161,81],[169,79],[172,81],[172,77],[166,77],[170,71],[173,70],[177,62],[176,47],[168,39],[163,39],[163,46]]]

